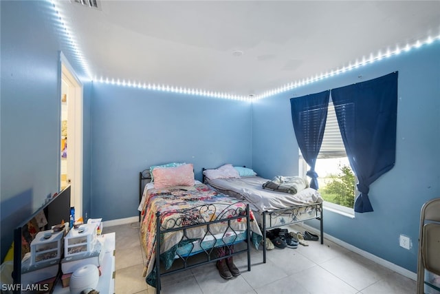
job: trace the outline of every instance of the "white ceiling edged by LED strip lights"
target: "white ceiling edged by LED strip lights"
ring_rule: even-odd
[[[57,3],[94,78],[260,94],[440,36],[440,1]]]

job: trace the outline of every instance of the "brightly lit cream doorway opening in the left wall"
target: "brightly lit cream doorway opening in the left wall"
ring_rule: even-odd
[[[83,216],[83,85],[61,53],[60,188],[71,185],[75,218]]]

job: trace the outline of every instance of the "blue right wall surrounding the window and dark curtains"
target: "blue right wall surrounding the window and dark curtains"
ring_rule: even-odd
[[[420,209],[440,197],[440,42],[253,103],[252,167],[262,176],[297,174],[289,98],[399,71],[395,167],[371,185],[374,212],[347,218],[325,210],[325,233],[409,271],[417,269]],[[362,76],[362,78],[358,78]],[[311,222],[318,227],[318,222]],[[410,236],[412,248],[399,246]]]

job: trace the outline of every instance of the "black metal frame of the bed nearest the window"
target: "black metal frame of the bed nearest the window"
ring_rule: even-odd
[[[205,174],[203,174],[203,171],[205,171],[206,168],[203,167],[201,174],[203,183],[205,182]],[[215,189],[215,188],[214,188]],[[298,218],[305,207],[310,207],[311,209],[315,209],[315,215],[310,218]],[[275,209],[270,211],[263,211],[261,213],[262,224],[260,225],[260,229],[263,232],[263,263],[266,263],[266,231],[278,227],[283,227],[289,224],[296,224],[298,222],[305,222],[306,220],[320,220],[320,242],[321,244],[324,244],[324,223],[323,223],[323,215],[322,215],[322,203],[311,203],[311,204],[304,204],[304,205],[297,205],[294,207],[286,207],[283,209]],[[258,213],[254,211],[254,213]],[[269,224],[266,222],[266,216],[270,216]],[[283,222],[283,224],[272,224],[277,218],[289,216],[289,222]]]

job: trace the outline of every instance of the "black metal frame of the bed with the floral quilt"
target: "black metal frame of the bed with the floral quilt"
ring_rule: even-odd
[[[145,169],[144,171],[141,171],[139,173],[139,191],[140,191],[140,200],[142,199],[142,193],[143,193],[143,189],[144,189],[144,185],[143,182],[146,182],[148,180],[151,180],[151,176],[150,176],[150,172],[148,169]],[[140,201],[139,200],[139,201]],[[190,211],[212,211],[214,209],[214,205],[213,204],[206,204],[206,205],[201,205],[199,207],[193,207],[190,209]],[[188,211],[189,212],[189,211]],[[177,273],[179,271],[185,271],[187,269],[192,269],[196,266],[201,266],[203,264],[208,264],[210,262],[216,262],[217,260],[222,260],[223,258],[228,258],[228,257],[232,257],[234,255],[243,253],[243,252],[247,252],[248,253],[248,271],[250,271],[250,244],[251,244],[251,239],[250,239],[250,208],[249,208],[249,204],[246,204],[246,211],[245,211],[245,215],[243,215],[243,210],[241,208],[227,208],[224,209],[219,216],[215,219],[215,220],[211,220],[209,222],[204,222],[204,220],[202,218],[197,218],[196,220],[193,219],[191,216],[194,216],[194,213],[188,213],[186,214],[185,211],[179,211],[179,213],[181,213],[181,217],[177,220],[173,220],[174,223],[171,224],[171,226],[169,224],[166,225],[166,227],[171,227],[171,229],[165,229],[164,228],[164,224],[162,224],[161,222],[161,214],[159,212],[156,213],[156,234],[157,235],[161,235],[164,233],[170,233],[173,231],[183,231],[183,236],[181,237],[181,239],[179,240],[177,246],[179,246],[180,244],[184,244],[184,242],[188,242],[189,240],[191,240],[188,237],[188,230],[189,229],[194,229],[196,227],[206,227],[206,233],[203,236],[203,238],[201,238],[201,240],[203,240],[206,236],[208,235],[212,235],[213,237],[213,242],[214,242],[214,246],[209,247],[209,248],[203,248],[203,246],[201,246],[202,251],[199,251],[199,255],[201,255],[202,253],[204,253],[203,258],[205,258],[204,260],[202,260],[201,262],[197,262],[197,263],[193,263],[193,264],[189,264],[189,260],[191,258],[192,255],[188,254],[188,255],[181,255],[179,253],[177,253],[177,259],[180,260],[182,262],[182,265],[180,267],[178,267],[177,269],[171,269],[168,271],[165,271],[163,273],[160,272],[160,239],[161,238],[156,238],[156,256],[155,256],[155,278],[156,278],[156,293],[160,293],[161,290],[161,282],[160,282],[160,277],[165,276],[165,275],[170,275],[172,273]],[[231,218],[224,218],[226,213],[230,213],[230,215],[232,215]],[[201,213],[200,213],[201,214]],[[221,242],[223,242],[223,244],[221,244],[220,246],[227,246],[229,249],[231,249],[231,246],[233,244],[236,243],[236,239],[238,238],[238,233],[236,233],[236,231],[234,231],[234,229],[232,229],[231,227],[231,222],[233,220],[237,220],[239,218],[246,218],[246,238],[245,240],[241,240],[239,242],[246,242],[245,244],[245,248],[244,249],[234,249],[232,250],[228,250],[226,251],[226,254],[224,256],[221,257],[215,257],[212,256],[212,253],[214,253],[214,248],[219,247],[219,245],[216,246],[217,244],[217,240],[220,240]],[[141,221],[141,213],[139,215],[139,220]],[[227,222],[227,227],[225,229],[225,231],[223,232],[223,235],[221,238],[216,238],[214,236],[214,233],[212,233],[212,231],[210,231],[210,226],[212,224],[217,224],[219,222]],[[182,226],[183,224],[183,226]],[[142,224],[141,224],[142,225]],[[223,238],[225,237],[225,233],[226,232],[233,232],[234,235],[232,237],[232,242],[224,242]],[[191,253],[192,249],[194,249],[194,245],[192,245],[191,250],[189,251]]]

